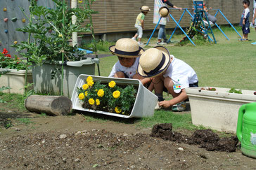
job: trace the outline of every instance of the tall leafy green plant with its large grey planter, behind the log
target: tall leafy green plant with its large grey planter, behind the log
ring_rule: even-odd
[[[85,24],[94,10],[89,3],[82,3],[82,8],[68,8],[65,1],[52,0],[56,8],[37,6],[37,1],[30,1],[29,24],[18,31],[30,34],[29,41],[15,46],[18,51],[32,62],[34,90],[46,93],[71,96],[75,80],[81,73],[94,75],[98,59],[84,57],[77,46],[70,46],[68,40],[73,32],[91,32],[91,24]],[[24,12],[23,12],[24,13]],[[24,15],[26,15],[24,13]],[[77,21],[72,22],[72,15]]]

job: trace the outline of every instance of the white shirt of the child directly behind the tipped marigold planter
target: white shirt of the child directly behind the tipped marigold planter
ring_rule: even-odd
[[[113,78],[115,76],[115,73],[122,71],[125,73],[129,78],[132,78],[134,74],[136,74],[136,69],[139,65],[139,57],[135,59],[135,62],[132,66],[130,67],[125,67],[120,64],[120,62],[116,62],[115,65],[113,66],[113,69],[108,77]]]

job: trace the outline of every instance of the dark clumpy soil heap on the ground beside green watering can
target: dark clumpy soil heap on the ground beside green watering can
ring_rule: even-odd
[[[218,150],[228,153],[235,152],[238,144],[236,136],[220,138],[211,129],[196,130],[192,136],[172,132],[172,124],[170,123],[155,125],[152,129],[151,136],[168,141],[187,143],[189,145],[199,145],[200,148],[205,148],[207,151]]]

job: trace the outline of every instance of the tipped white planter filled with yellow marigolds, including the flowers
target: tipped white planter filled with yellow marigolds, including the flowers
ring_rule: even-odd
[[[152,116],[158,97],[139,80],[80,75],[72,94],[72,108],[120,118]]]

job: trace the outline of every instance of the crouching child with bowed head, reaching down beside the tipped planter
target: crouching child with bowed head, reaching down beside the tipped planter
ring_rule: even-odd
[[[138,73],[145,78],[152,78],[159,106],[172,106],[172,111],[184,111],[184,101],[188,99],[185,88],[198,87],[198,76],[191,66],[169,55],[169,51],[162,46],[143,52],[139,59]],[[173,99],[164,101],[163,91],[172,94]]]

